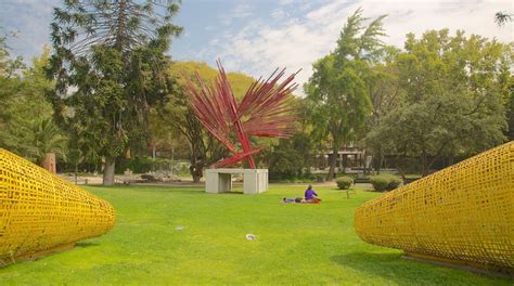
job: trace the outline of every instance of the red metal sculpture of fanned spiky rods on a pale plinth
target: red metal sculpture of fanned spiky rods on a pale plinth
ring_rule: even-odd
[[[295,118],[291,100],[292,92],[298,87],[293,80],[299,70],[282,83],[279,80],[285,68],[275,69],[266,81],[259,78],[239,103],[221,62],[217,61],[217,64],[219,75],[214,84],[207,84],[197,73],[200,88],[191,80],[187,84],[191,106],[200,122],[233,154],[211,167],[224,167],[246,159],[249,168],[255,169],[253,155],[261,148],[252,148],[249,136],[288,138],[293,133]],[[232,142],[234,136],[242,151]]]

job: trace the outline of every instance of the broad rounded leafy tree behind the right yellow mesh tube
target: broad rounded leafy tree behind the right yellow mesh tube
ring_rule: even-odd
[[[427,174],[441,156],[472,155],[505,140],[512,48],[463,31],[408,35],[398,66],[404,99],[372,130],[393,154],[420,158]]]

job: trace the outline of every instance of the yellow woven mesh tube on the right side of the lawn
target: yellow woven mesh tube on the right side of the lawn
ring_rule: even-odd
[[[446,261],[514,270],[514,141],[367,202],[368,243]]]

